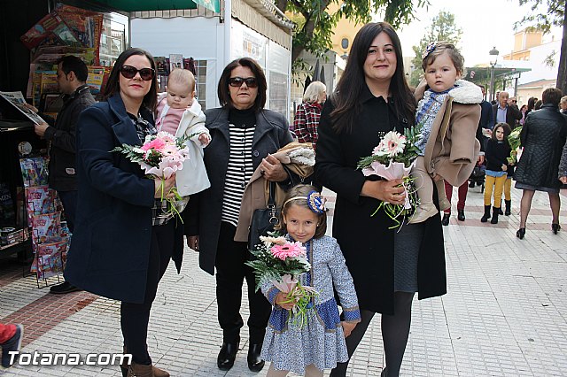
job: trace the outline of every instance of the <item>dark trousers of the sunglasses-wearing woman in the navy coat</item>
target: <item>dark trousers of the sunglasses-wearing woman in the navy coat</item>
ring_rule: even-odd
[[[145,283],[144,303],[120,304],[120,327],[124,336],[124,345],[132,354],[136,364],[150,365],[146,340],[148,337],[148,322],[153,300],[156,298],[158,283],[167,270],[169,259],[174,250],[175,220],[166,225],[151,227],[150,261],[148,277]]]

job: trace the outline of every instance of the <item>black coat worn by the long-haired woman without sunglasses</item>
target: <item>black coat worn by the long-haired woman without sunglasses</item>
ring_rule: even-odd
[[[362,112],[355,118],[353,131],[340,134],[331,127],[331,101],[323,106],[315,174],[323,186],[337,193],[333,236],[337,238],[353,275],[361,309],[392,314],[395,230],[388,229],[393,222],[384,211],[370,216],[380,201],[360,195],[367,178],[356,169],[356,165],[360,158],[371,155],[386,132],[392,129],[401,131],[408,121],[398,120],[392,107],[381,98],[374,98],[368,89],[361,96],[361,104]],[[375,115],[372,109],[376,110],[374,106],[387,110],[382,110],[380,118],[372,118]],[[416,245],[419,247],[418,296],[423,299],[444,295],[447,293],[447,276],[439,214],[421,225],[404,225],[416,226],[425,227],[421,245]]]

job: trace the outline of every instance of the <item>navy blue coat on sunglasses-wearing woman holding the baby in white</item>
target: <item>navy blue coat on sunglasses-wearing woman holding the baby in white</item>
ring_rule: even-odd
[[[141,110],[144,119],[151,112]],[[154,182],[118,152],[140,144],[119,94],[90,106],[77,124],[78,198],[65,278],[100,296],[143,303],[151,245]],[[183,229],[173,251],[178,271]]]

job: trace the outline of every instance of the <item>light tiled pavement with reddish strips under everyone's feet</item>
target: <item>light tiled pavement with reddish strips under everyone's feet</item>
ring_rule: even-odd
[[[482,194],[473,188],[466,221],[452,218],[444,228],[448,294],[415,300],[402,375],[567,375],[567,226],[552,234],[548,197],[537,193],[526,237],[517,240],[520,196],[513,189],[512,215],[493,226],[478,220]],[[562,216],[567,219],[567,212]],[[37,288],[34,277],[22,277],[20,265],[0,260],[0,320],[24,323],[24,352],[120,352],[119,312],[119,303],[86,292],[52,296]],[[264,375],[248,371],[246,332],[242,335],[236,365],[219,371],[214,277],[200,271],[197,254],[186,250],[182,273],[169,266],[153,305],[148,343],[154,362],[175,376]],[[383,359],[377,318],[349,373],[377,376]],[[4,375],[120,373],[112,365],[16,365]]]

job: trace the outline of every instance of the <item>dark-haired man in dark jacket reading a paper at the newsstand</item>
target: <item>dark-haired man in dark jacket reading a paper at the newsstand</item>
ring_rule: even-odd
[[[50,124],[35,125],[35,134],[50,143],[49,184],[50,188],[57,190],[61,199],[71,234],[74,233],[77,207],[75,129],[79,114],[95,103],[86,83],[88,75],[87,65],[80,58],[72,55],[60,58],[57,65],[57,83],[63,94],[63,107],[58,112],[57,120],[40,113]],[[32,110],[37,112],[35,108]],[[77,290],[81,289],[64,281],[52,286],[50,293],[64,294]]]

